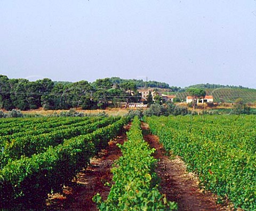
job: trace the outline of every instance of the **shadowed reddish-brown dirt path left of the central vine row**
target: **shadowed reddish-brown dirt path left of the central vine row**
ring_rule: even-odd
[[[123,144],[127,139],[126,131],[130,125],[126,125],[120,136],[109,141],[109,146],[102,150],[97,157],[91,159],[91,164],[84,171],[77,174],[77,179],[72,187],[63,189],[62,194],[54,194],[47,200],[46,210],[62,211],[95,211],[98,210],[92,198],[98,192],[103,200],[106,200],[110,187],[105,185],[112,182],[113,174],[110,172],[112,164],[122,156],[117,143]]]

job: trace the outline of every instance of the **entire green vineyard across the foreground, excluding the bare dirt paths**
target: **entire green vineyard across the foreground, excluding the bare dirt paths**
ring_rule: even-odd
[[[179,156],[188,171],[196,173],[201,188],[215,193],[218,202],[228,199],[234,208],[256,210],[254,115],[152,116],[145,120],[168,152],[165,154]],[[40,204],[48,193],[61,191],[128,122],[127,117],[103,116],[1,119],[0,209],[20,202],[28,207]],[[99,210],[176,210],[178,205],[180,211],[180,201],[161,192],[161,180],[168,185],[174,181],[166,177],[171,174],[171,166],[167,171],[166,165],[171,164],[162,164],[165,167],[159,170],[158,158],[153,156],[159,148],[151,148],[145,141],[140,124],[135,116],[127,140],[117,144],[122,156],[111,170],[107,198],[103,200],[95,192],[90,200]],[[164,178],[160,179],[159,171]],[[172,188],[163,187],[165,191],[174,191]],[[177,194],[184,190],[181,187]]]

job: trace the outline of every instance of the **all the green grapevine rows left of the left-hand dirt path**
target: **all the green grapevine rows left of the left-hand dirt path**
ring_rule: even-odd
[[[126,121],[121,117],[1,120],[1,206],[19,200],[35,203],[60,190]]]

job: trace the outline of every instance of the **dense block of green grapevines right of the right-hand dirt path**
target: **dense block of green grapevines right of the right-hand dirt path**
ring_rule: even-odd
[[[206,189],[256,210],[255,116],[151,117],[150,129],[167,151],[196,172]]]

